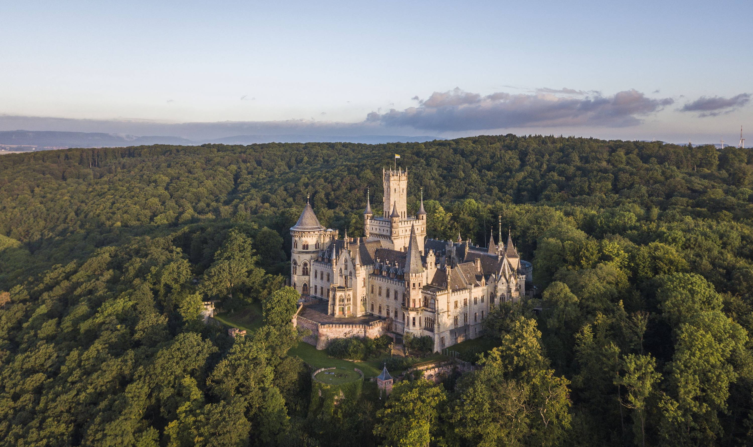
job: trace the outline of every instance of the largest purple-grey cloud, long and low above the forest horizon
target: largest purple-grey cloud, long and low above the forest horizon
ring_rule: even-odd
[[[419,102],[419,107],[403,111],[392,109],[384,114],[371,112],[367,122],[438,132],[524,126],[624,127],[642,123],[640,117],[660,111],[672,102],[670,98],[648,98],[636,90],[625,90],[614,96],[590,93],[583,98],[573,98],[544,92],[498,92],[481,96],[456,88],[432,93]]]

